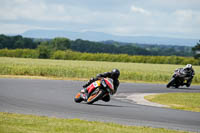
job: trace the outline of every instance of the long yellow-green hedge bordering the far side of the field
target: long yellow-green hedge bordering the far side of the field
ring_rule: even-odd
[[[71,50],[51,51],[45,45],[40,45],[37,50],[15,49],[0,50],[0,56],[21,57],[21,58],[51,58],[62,60],[87,60],[87,61],[109,61],[109,62],[132,62],[151,64],[192,64],[200,65],[200,60],[192,57],[180,56],[130,56],[127,54],[106,54],[106,53],[81,53]]]

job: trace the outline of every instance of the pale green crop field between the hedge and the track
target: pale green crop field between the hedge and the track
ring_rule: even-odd
[[[88,79],[98,73],[118,68],[120,80],[163,82],[170,80],[174,69],[183,65],[71,61],[0,57],[0,75],[29,75]],[[193,83],[200,83],[200,66],[194,66]]]

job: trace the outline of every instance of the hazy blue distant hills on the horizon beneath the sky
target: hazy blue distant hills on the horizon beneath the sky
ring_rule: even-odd
[[[24,37],[31,38],[55,38],[67,37],[71,40],[83,39],[90,41],[106,41],[113,40],[124,43],[138,43],[138,44],[158,44],[158,45],[182,45],[194,46],[199,39],[183,39],[170,37],[151,37],[151,36],[117,36],[106,34],[103,32],[71,32],[62,30],[28,30],[21,34]]]

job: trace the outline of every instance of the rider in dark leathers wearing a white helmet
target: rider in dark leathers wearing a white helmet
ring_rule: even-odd
[[[187,64],[185,67],[179,68],[179,69],[182,69],[183,73],[185,74],[185,77],[188,77],[187,82],[184,85],[186,85],[187,87],[190,87],[190,85],[192,83],[192,79],[195,75],[192,65]],[[176,70],[178,70],[178,69],[176,69]]]

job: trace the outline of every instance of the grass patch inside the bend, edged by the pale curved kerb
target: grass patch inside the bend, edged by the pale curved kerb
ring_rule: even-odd
[[[167,93],[146,96],[145,99],[173,109],[200,112],[200,93]]]

